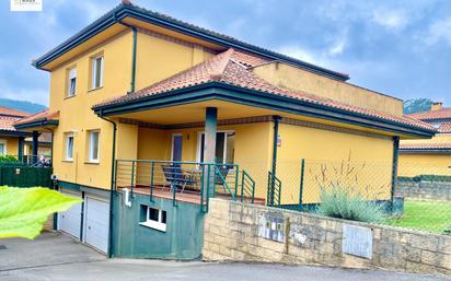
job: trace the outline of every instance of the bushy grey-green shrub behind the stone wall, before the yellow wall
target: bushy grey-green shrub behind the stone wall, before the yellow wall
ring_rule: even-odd
[[[384,221],[382,206],[339,187],[321,190],[321,203],[316,213],[359,222],[380,223]]]

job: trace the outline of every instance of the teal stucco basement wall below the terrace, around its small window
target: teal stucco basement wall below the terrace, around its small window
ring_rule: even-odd
[[[124,194],[114,195],[115,257],[195,259],[201,254],[204,214],[198,204],[135,195],[131,207],[124,204]],[[140,208],[149,206],[166,211],[166,232],[140,225]]]

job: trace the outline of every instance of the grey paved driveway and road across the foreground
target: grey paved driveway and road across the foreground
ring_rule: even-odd
[[[35,241],[0,241],[0,280],[450,281],[451,279],[324,267],[106,259],[105,256],[72,241],[63,234],[45,233]]]

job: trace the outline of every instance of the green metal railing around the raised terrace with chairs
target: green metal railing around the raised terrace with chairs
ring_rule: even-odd
[[[209,197],[254,202],[255,195],[255,182],[239,165],[187,161],[116,160],[114,188],[129,189],[131,198],[135,192],[150,200],[165,197],[174,206],[177,200],[199,202],[204,212]]]

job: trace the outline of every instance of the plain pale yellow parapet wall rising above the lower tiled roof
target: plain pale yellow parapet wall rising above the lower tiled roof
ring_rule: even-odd
[[[281,62],[256,67],[254,73],[280,87],[303,91],[345,104],[403,115],[403,101]]]

